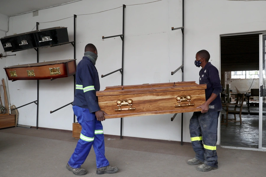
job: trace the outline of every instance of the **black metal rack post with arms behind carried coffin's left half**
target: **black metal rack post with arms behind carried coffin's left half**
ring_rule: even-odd
[[[117,71],[120,71],[121,73],[121,86],[123,86],[123,77],[124,77],[124,74],[123,74],[123,69],[124,69],[124,40],[125,40],[125,8],[126,8],[126,5],[123,4],[123,30],[122,30],[122,35],[115,35],[115,36],[108,36],[108,37],[104,37],[102,36],[102,39],[107,39],[107,38],[111,38],[111,37],[118,37],[120,36],[121,40],[122,40],[122,68],[116,70],[116,71],[113,71],[111,73],[108,73],[106,75],[102,75],[101,77],[105,77],[105,76],[108,76],[110,74],[113,74]],[[123,125],[123,117],[121,117],[121,122],[120,122],[120,140],[122,140],[122,126]]]

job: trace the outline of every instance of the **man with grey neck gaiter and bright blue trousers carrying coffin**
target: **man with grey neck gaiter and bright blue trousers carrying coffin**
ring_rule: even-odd
[[[104,111],[100,110],[96,91],[100,90],[100,82],[95,63],[98,52],[93,44],[87,44],[82,60],[77,65],[76,91],[73,111],[82,130],[77,147],[67,163],[67,169],[75,175],[85,175],[87,171],[80,166],[86,160],[91,146],[96,155],[97,174],[115,173],[117,167],[111,167],[105,157],[103,126]]]

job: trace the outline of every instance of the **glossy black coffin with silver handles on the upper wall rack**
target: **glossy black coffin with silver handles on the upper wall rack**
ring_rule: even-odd
[[[5,52],[15,52],[69,42],[67,27],[53,27],[2,37]]]

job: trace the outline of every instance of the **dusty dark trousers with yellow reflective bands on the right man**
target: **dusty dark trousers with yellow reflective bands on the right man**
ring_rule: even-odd
[[[217,126],[220,111],[194,112],[189,122],[189,132],[195,158],[218,168],[216,153]]]

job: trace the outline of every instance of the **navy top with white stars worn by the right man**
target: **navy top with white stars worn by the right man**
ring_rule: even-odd
[[[222,103],[220,93],[222,91],[222,85],[218,69],[210,62],[200,70],[200,84],[207,84],[207,89],[205,89],[206,101],[210,98],[212,93],[217,95],[217,97],[210,103],[209,111],[221,111]]]

